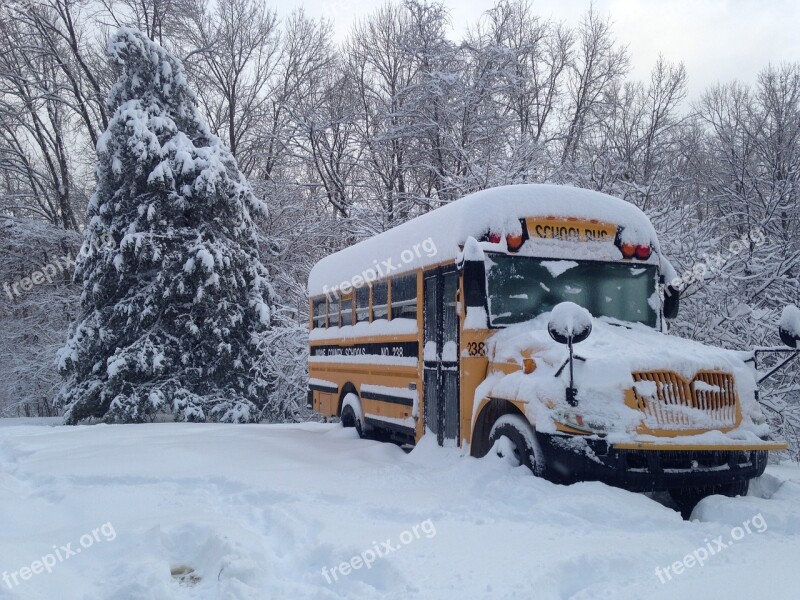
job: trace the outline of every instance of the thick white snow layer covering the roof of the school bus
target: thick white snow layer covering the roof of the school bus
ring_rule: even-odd
[[[378,271],[380,278],[455,259],[459,246],[468,237],[480,239],[490,231],[518,234],[520,219],[530,217],[577,218],[617,225],[624,228],[626,242],[650,244],[655,254],[660,254],[650,220],[630,202],[560,185],[507,185],[469,194],[323,258],[308,276],[309,295],[339,289],[343,282],[350,282],[354,276],[364,273],[371,275]],[[570,246],[575,249],[578,244],[555,240],[537,241],[537,244],[541,246],[542,242],[550,242],[551,251],[553,242],[559,246],[559,251],[550,256],[560,258],[566,251],[563,258],[580,258],[569,252]],[[614,253],[606,256],[602,256],[604,252],[597,254],[597,243],[581,246],[587,258],[615,260],[621,256],[613,244],[604,244],[611,246],[610,251]],[[587,252],[590,255],[586,255]],[[657,262],[657,256],[653,256],[653,260]]]

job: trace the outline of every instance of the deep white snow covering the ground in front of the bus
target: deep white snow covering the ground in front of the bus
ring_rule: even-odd
[[[693,518],[336,425],[0,427],[0,598],[798,597],[800,467]]]

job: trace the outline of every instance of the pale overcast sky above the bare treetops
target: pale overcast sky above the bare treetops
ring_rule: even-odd
[[[450,7],[453,37],[492,0],[444,0]],[[370,0],[287,0],[313,16],[334,19],[344,39],[359,16],[373,10]],[[800,61],[800,0],[595,0],[595,8],[614,22],[618,39],[627,44],[633,76],[647,79],[658,54],[683,61],[689,95],[710,84],[739,79],[752,83],[768,63]],[[534,0],[534,11],[570,24],[579,21],[589,0]]]

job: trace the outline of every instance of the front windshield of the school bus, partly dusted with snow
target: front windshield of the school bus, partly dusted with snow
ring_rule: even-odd
[[[542,259],[487,254],[493,327],[528,321],[560,302],[575,302],[595,317],[658,323],[654,265]],[[654,306],[655,305],[655,306]]]

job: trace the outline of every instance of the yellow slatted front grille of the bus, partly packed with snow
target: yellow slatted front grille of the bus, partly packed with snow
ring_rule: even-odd
[[[645,383],[634,385],[633,395],[648,429],[720,429],[736,425],[736,392],[728,373],[700,371],[689,381],[672,371],[639,371],[633,374],[633,380]]]

